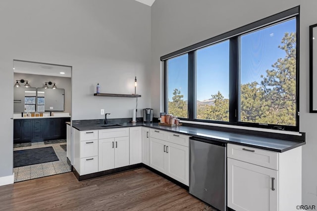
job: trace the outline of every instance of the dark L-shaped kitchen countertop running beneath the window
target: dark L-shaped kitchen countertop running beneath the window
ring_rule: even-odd
[[[121,121],[115,122],[115,120],[109,120],[108,124],[120,124],[121,126],[112,127],[102,127],[104,125],[103,120],[74,120],[72,122],[73,128],[77,130],[101,130],[110,128],[120,128],[120,127],[134,127],[134,126],[144,126],[155,129],[160,129],[164,131],[180,133],[183,135],[189,135],[197,138],[205,139],[208,141],[217,141],[222,143],[230,143],[243,145],[248,147],[254,147],[274,152],[285,152],[293,148],[305,145],[305,141],[293,141],[293,140],[283,140],[279,138],[267,138],[256,135],[239,134],[233,132],[224,132],[211,129],[204,129],[199,127],[191,126],[178,126],[178,127],[168,127],[159,125],[159,123],[143,123],[138,121],[137,123],[127,122],[121,119]]]

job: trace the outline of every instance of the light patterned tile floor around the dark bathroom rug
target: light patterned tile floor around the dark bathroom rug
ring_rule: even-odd
[[[66,151],[64,151],[59,145],[64,145],[65,143],[57,144],[44,144],[44,142],[32,143],[30,147],[17,147],[13,148],[16,150],[27,150],[40,147],[53,147],[55,154],[59,160],[53,162],[45,162],[34,165],[26,165],[21,167],[13,168],[14,172],[14,182],[20,182],[24,180],[50,176],[54,174],[66,173],[70,171],[70,167],[66,161]]]

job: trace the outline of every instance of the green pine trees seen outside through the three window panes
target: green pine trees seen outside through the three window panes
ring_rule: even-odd
[[[281,46],[284,58],[279,58],[262,75],[261,84],[254,81],[241,85],[240,101],[242,122],[296,125],[296,35],[285,33]],[[211,95],[211,105],[197,105],[197,119],[229,121],[229,100],[222,94]],[[187,118],[187,102],[174,89],[168,112]]]

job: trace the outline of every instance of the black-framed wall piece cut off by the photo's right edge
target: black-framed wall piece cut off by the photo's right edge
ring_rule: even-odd
[[[317,24],[309,27],[310,42],[310,112],[317,113]]]

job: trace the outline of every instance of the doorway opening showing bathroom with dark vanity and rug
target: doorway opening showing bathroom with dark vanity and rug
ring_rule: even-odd
[[[71,171],[71,71],[67,65],[13,60],[14,182]]]

